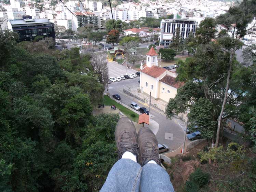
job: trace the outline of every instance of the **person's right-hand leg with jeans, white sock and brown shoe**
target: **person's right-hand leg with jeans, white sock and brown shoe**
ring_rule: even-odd
[[[169,174],[160,166],[156,136],[148,127],[139,130],[140,192],[174,192]]]

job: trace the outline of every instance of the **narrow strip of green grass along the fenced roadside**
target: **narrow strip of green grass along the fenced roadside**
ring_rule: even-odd
[[[104,104],[108,106],[115,105],[124,115],[126,115],[132,121],[138,122],[139,120],[139,115],[137,113],[134,113],[130,109],[127,109],[126,107],[118,104],[113,99],[110,99],[108,95],[104,95]]]

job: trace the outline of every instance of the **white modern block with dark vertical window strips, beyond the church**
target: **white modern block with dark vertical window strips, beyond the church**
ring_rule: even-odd
[[[197,21],[189,19],[163,19],[161,20],[160,44],[169,45],[176,34],[177,27],[180,28],[180,38],[186,39],[192,32],[195,35]]]

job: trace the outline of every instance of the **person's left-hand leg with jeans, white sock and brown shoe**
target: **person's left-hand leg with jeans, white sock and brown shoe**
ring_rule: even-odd
[[[129,118],[118,121],[115,140],[119,160],[111,168],[100,192],[138,192],[142,167],[137,163],[136,129]]]

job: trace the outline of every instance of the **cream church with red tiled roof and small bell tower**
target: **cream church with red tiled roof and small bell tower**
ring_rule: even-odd
[[[146,65],[140,65],[140,92],[146,95],[150,95],[151,92],[152,98],[169,102],[184,83],[175,81],[178,75],[175,70],[166,70],[158,66],[158,53],[153,47],[146,55]]]

